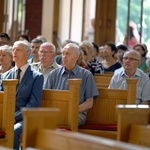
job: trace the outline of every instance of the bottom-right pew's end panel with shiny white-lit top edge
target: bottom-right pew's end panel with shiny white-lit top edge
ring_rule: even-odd
[[[118,113],[118,141],[128,142],[131,125],[147,125],[150,123],[150,108],[148,105],[118,105],[116,109]]]

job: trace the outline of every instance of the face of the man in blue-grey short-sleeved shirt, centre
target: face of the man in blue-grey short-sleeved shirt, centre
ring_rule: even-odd
[[[62,50],[62,62],[63,62],[63,65],[68,70],[73,69],[78,58],[79,58],[79,55],[73,48],[69,46],[65,46],[64,49]]]

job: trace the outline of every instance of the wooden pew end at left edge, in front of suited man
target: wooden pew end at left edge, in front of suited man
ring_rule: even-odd
[[[0,145],[13,148],[16,85],[18,80],[3,80],[4,91],[0,92]]]

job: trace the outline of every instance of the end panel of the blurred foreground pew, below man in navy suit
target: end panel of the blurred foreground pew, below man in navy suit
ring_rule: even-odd
[[[34,147],[37,131],[56,129],[60,110],[58,108],[23,108],[23,138],[22,147]],[[47,139],[48,140],[48,139]]]

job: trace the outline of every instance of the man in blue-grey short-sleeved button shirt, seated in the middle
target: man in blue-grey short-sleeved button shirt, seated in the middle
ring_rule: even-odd
[[[79,55],[80,50],[76,44],[67,44],[62,50],[63,66],[50,72],[44,89],[68,90],[68,79],[81,78],[78,122],[83,125],[88,109],[93,106],[93,98],[99,93],[92,73],[76,64]]]

